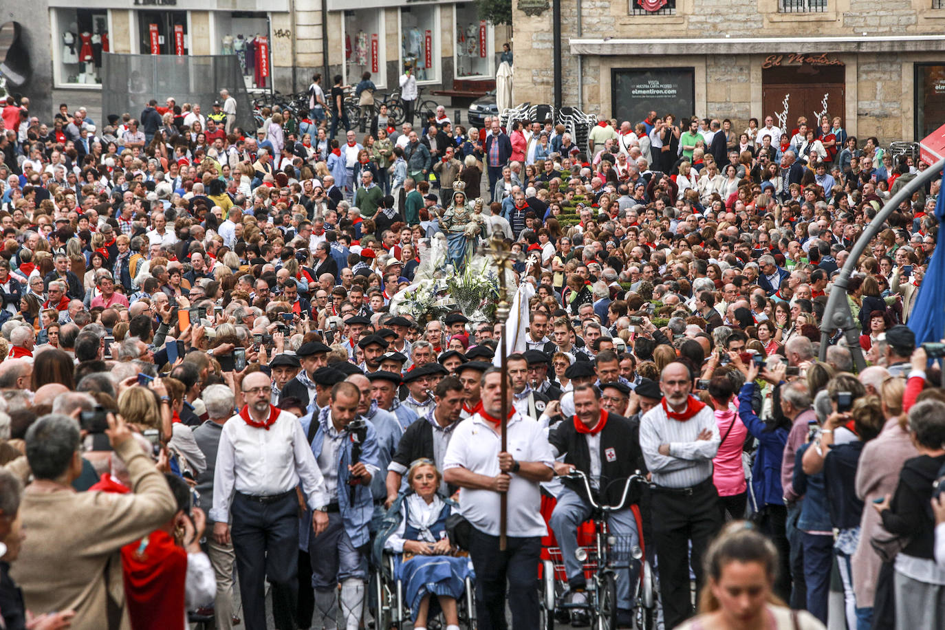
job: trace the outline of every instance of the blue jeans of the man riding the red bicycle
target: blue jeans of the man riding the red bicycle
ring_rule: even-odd
[[[581,561],[575,557],[575,550],[577,549],[577,528],[590,517],[591,507],[574,490],[564,488],[558,495],[558,504],[555,505],[555,511],[552,512],[551,519],[548,521],[551,529],[555,531],[555,537],[558,538],[558,546],[564,558],[564,570],[568,574],[568,584],[572,588],[585,587],[584,569]],[[632,605],[630,585],[633,584],[630,577],[629,552],[634,545],[640,544],[637,521],[633,518],[633,512],[627,508],[611,513],[607,519],[607,525],[610,527],[610,532],[620,540],[618,548],[612,550],[620,552],[620,555],[614,558],[619,567],[617,569],[617,606],[629,609]],[[627,557],[623,557],[624,555]]]

